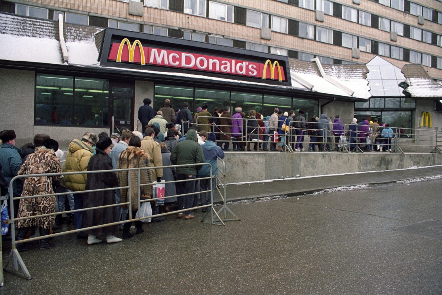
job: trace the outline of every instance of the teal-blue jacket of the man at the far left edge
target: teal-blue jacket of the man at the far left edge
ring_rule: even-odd
[[[12,177],[17,175],[17,172],[22,166],[22,158],[19,154],[20,151],[21,149],[8,143],[3,143],[3,145],[0,146],[0,163],[2,165],[1,175],[8,182],[8,186]],[[19,196],[22,193],[22,188],[23,183],[15,180],[14,196]],[[9,192],[6,195],[9,195]]]

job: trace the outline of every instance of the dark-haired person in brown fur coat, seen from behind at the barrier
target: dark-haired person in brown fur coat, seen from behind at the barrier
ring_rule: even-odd
[[[118,169],[127,169],[127,168],[144,168],[150,167],[150,160],[147,153],[141,149],[141,141],[137,136],[133,136],[130,138],[129,147],[120,153],[118,156]],[[140,171],[140,184],[152,184],[152,170],[151,169],[141,169]],[[152,197],[152,185],[143,185],[140,186],[138,184],[137,171],[130,172],[130,184],[129,177],[127,171],[119,171],[117,173],[118,181],[122,187],[130,186],[130,195],[129,189],[122,188],[121,189],[121,203],[129,202],[129,198],[132,201],[132,218],[135,218],[135,215],[138,211],[138,188],[141,190],[141,200],[150,199]],[[150,203],[148,203],[150,205]],[[128,205],[122,205],[123,208],[129,208]],[[129,213],[128,213],[129,215]],[[129,219],[129,216],[127,216]],[[126,222],[123,226],[123,238],[131,238],[133,234],[129,232],[130,226],[132,222]],[[135,221],[135,227],[137,228],[137,234],[141,234],[144,230],[142,228],[143,222]]]

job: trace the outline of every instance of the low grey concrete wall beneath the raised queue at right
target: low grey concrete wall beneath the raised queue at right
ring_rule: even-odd
[[[238,183],[442,165],[442,154],[245,152],[226,153],[225,163],[227,183]]]

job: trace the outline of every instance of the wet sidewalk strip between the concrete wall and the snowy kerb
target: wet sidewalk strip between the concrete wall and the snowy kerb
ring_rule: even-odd
[[[291,178],[269,182],[228,184],[226,187],[226,195],[228,201],[272,197],[277,195],[297,196],[311,194],[326,188],[337,188],[358,184],[391,183],[399,180],[437,175],[442,175],[442,166],[440,165],[403,170]]]

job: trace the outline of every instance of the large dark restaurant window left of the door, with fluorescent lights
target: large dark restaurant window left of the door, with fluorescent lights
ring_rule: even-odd
[[[37,74],[35,118],[44,125],[107,126],[108,95],[108,80]]]

